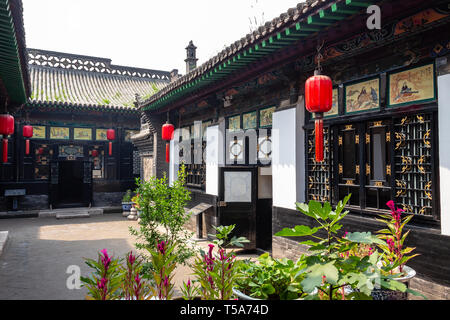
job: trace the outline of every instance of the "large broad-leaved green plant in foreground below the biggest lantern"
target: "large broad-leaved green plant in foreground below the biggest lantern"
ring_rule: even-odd
[[[301,286],[309,294],[308,299],[371,299],[371,292],[375,285],[382,288],[399,290],[409,289],[403,283],[392,277],[381,274],[378,262],[381,257],[377,251],[371,255],[358,256],[344,253],[357,250],[361,244],[380,244],[384,241],[370,232],[347,233],[340,237],[338,231],[342,228],[339,223],[347,214],[345,205],[351,195],[339,201],[335,210],[325,202],[317,201],[308,204],[297,203],[297,209],[317,222],[317,227],[295,226],[285,228],[276,233],[277,236],[308,237],[301,244],[308,245],[311,255],[304,257],[306,265],[304,280]],[[320,232],[320,233],[319,233]],[[345,295],[345,287],[351,288],[351,293]],[[313,294],[315,289],[317,294]]]

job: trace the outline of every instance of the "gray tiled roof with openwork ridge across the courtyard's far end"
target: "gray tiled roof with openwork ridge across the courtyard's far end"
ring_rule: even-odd
[[[170,82],[170,73],[111,65],[111,60],[28,49],[30,104],[134,108]]]

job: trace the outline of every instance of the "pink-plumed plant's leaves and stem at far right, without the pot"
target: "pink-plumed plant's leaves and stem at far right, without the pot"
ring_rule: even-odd
[[[386,241],[378,247],[383,250],[383,267],[393,274],[396,270],[403,272],[403,267],[410,259],[418,254],[409,255],[415,248],[405,247],[404,242],[410,230],[403,233],[403,228],[412,219],[413,215],[404,215],[404,210],[396,208],[394,201],[390,200],[386,205],[391,209],[390,214],[380,215],[380,222],[386,224],[387,228],[379,230],[378,237]]]

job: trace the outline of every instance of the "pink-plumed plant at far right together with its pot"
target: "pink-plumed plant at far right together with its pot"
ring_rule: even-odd
[[[383,251],[380,263],[381,270],[384,274],[409,287],[409,282],[416,275],[416,271],[408,267],[406,262],[418,256],[418,254],[410,255],[415,248],[404,245],[410,230],[403,233],[403,228],[412,219],[413,215],[403,215],[402,217],[404,210],[396,208],[392,200],[388,201],[386,205],[389,207],[390,213],[381,214],[380,219],[377,219],[387,226],[387,228],[377,232],[378,238],[385,241],[378,244],[378,247]],[[380,288],[372,292],[372,297],[374,300],[407,300],[408,291],[401,292]]]

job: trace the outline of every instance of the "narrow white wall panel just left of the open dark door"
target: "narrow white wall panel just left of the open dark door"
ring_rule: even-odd
[[[219,195],[219,126],[206,129],[206,193]]]

